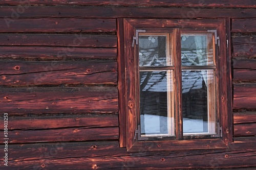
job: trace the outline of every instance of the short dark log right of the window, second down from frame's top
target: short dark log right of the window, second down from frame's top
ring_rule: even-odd
[[[234,57],[256,56],[256,36],[232,36],[232,45]]]

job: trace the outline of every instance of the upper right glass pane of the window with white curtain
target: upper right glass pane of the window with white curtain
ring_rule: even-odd
[[[212,34],[182,34],[182,66],[214,65]]]

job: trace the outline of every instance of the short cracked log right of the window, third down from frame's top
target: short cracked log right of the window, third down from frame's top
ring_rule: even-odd
[[[233,80],[250,81],[256,80],[255,59],[233,59]]]

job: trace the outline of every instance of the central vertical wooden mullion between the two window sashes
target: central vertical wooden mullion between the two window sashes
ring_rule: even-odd
[[[183,123],[182,123],[182,75],[181,75],[181,42],[180,29],[174,29],[173,33],[173,56],[175,63],[175,119],[176,119],[176,139],[183,138]]]

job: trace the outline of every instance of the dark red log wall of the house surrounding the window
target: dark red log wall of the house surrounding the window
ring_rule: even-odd
[[[125,18],[229,23],[225,149],[127,152]],[[2,0],[0,72],[0,136],[8,113],[9,138],[0,169],[256,169],[253,0]]]

